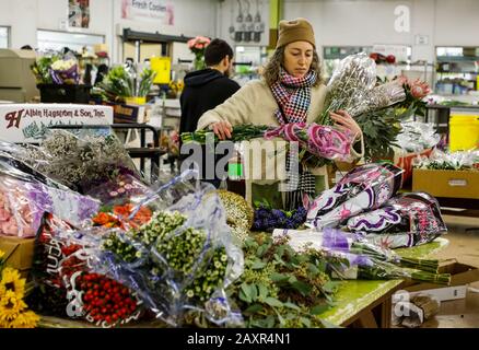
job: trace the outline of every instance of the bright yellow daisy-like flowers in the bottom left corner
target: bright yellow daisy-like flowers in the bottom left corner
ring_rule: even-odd
[[[39,317],[27,310],[24,301],[25,279],[11,267],[4,267],[0,250],[0,328],[35,328]]]

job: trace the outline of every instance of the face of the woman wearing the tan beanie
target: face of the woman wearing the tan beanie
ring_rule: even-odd
[[[314,47],[307,42],[294,42],[284,47],[284,69],[294,78],[303,78],[313,62]]]

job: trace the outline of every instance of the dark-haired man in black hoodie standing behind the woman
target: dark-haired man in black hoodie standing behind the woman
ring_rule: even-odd
[[[179,97],[182,119],[179,132],[194,132],[201,115],[226,101],[240,90],[240,84],[230,79],[233,67],[233,49],[222,39],[213,39],[205,50],[206,69],[185,75],[185,88]],[[203,148],[203,154],[205,154]],[[183,154],[180,158],[188,155]],[[220,156],[218,156],[220,158]],[[205,174],[203,156],[203,174]],[[205,179],[205,176],[201,176]],[[208,179],[215,187],[220,186],[219,178]]]

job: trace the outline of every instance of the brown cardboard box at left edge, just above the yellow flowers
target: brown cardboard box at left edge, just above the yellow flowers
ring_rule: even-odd
[[[5,255],[5,266],[25,275],[32,268],[35,238],[0,237],[0,250]]]

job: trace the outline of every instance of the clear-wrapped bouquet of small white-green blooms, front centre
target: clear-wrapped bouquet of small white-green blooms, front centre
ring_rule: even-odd
[[[191,186],[186,178],[183,174],[161,186],[148,205],[162,208],[166,199],[171,206],[126,232],[127,245],[137,247],[129,248],[132,261],[102,245],[94,270],[137,291],[144,306],[171,326],[182,325],[191,311],[220,326],[236,323],[224,290],[243,272],[243,252],[233,243],[212,186]],[[148,252],[148,258],[138,252]]]

